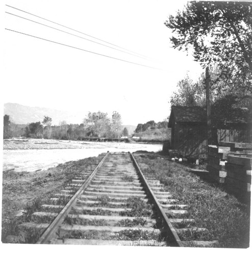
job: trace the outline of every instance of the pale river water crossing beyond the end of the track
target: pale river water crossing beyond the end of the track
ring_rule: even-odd
[[[90,142],[84,148],[41,149],[41,150],[4,150],[3,170],[15,168],[16,172],[34,172],[38,169],[55,167],[60,163],[96,157],[101,153],[135,152],[138,150],[158,152],[162,144],[131,144],[116,142]]]

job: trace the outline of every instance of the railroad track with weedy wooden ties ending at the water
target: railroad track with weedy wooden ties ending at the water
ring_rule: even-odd
[[[38,244],[213,246],[216,241],[190,240],[206,230],[186,219],[186,207],[144,177],[131,153],[108,153],[19,228]]]

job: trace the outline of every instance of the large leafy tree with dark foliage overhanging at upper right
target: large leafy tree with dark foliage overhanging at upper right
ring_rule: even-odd
[[[172,29],[174,49],[193,51],[204,68],[213,63],[220,70],[218,90],[233,87],[251,93],[252,3],[188,2],[183,11],[170,15],[165,25]]]

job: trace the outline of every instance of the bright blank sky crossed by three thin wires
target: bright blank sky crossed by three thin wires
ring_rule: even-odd
[[[123,124],[132,125],[164,120],[177,82],[186,73],[195,79],[203,72],[190,55],[171,48],[172,32],[164,25],[168,15],[184,4],[167,0],[2,2],[2,103],[68,110],[83,118],[89,111],[109,116],[117,111]]]

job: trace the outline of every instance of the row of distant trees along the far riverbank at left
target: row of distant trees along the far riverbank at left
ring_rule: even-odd
[[[4,116],[4,139],[24,136],[75,140],[83,137],[119,138],[128,135],[127,128],[122,131],[121,116],[116,111],[113,112],[111,118],[107,113],[100,111],[89,112],[81,124],[67,124],[66,121],[61,121],[59,125],[52,125],[52,118],[48,116],[44,116],[42,122],[32,122],[26,126],[13,124],[9,115]]]

